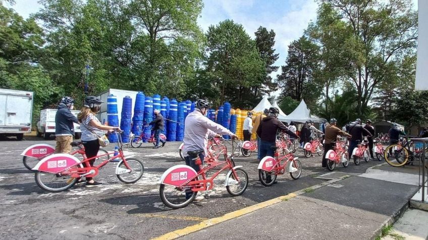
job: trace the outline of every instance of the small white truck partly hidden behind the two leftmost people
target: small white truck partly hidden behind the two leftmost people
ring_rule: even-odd
[[[55,134],[55,115],[58,109],[44,109],[40,111],[40,121],[37,122],[37,136],[49,139],[51,134]],[[74,116],[80,113],[79,110],[72,110]],[[74,123],[75,138],[80,138],[80,125]]]

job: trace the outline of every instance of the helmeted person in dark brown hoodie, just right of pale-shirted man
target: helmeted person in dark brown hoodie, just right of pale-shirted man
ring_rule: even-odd
[[[299,138],[295,133],[290,131],[280,120],[278,120],[278,108],[272,107],[269,109],[269,116],[263,118],[257,128],[257,135],[260,137],[260,159],[267,156],[274,156],[272,146],[276,146],[276,136],[278,131],[282,131],[292,137]],[[266,176],[266,181],[271,182],[271,176]]]

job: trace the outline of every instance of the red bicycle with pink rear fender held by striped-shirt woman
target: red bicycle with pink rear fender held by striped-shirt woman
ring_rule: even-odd
[[[34,176],[37,185],[48,192],[65,191],[73,187],[78,179],[97,176],[100,168],[117,158],[121,159],[116,166],[118,179],[124,183],[137,182],[143,176],[144,166],[138,159],[125,157],[122,150],[122,137],[120,134],[117,135],[119,139],[118,154],[106,159],[97,166],[94,164],[91,167],[89,161],[115,152],[87,158],[83,145],[79,145],[79,153],[83,155],[82,162],[73,155],[62,153],[52,154],[43,158],[33,169],[37,171]]]

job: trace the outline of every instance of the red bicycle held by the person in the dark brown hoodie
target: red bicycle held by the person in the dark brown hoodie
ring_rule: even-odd
[[[298,157],[294,157],[293,152],[288,152],[285,156],[280,157],[277,146],[272,146],[275,150],[274,157],[265,156],[258,164],[258,179],[263,186],[269,187],[275,183],[278,175],[285,174],[286,167],[290,176],[297,180],[302,174],[302,165],[298,161]],[[287,166],[288,164],[288,166]],[[270,178],[269,178],[270,176]]]

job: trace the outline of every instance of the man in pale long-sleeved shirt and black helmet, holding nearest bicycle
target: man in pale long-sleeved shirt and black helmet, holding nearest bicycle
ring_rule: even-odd
[[[229,135],[232,138],[238,138],[233,132],[220,124],[211,121],[205,117],[205,113],[211,106],[206,100],[199,99],[195,103],[195,110],[189,113],[184,121],[184,138],[183,138],[183,156],[187,166],[193,168],[196,172],[200,171],[199,165],[187,153],[188,151],[203,151],[199,154],[201,162],[206,155],[206,145],[209,130],[221,134]],[[190,192],[186,192],[186,198],[191,196]],[[202,200],[202,196],[196,197],[196,200]]]

